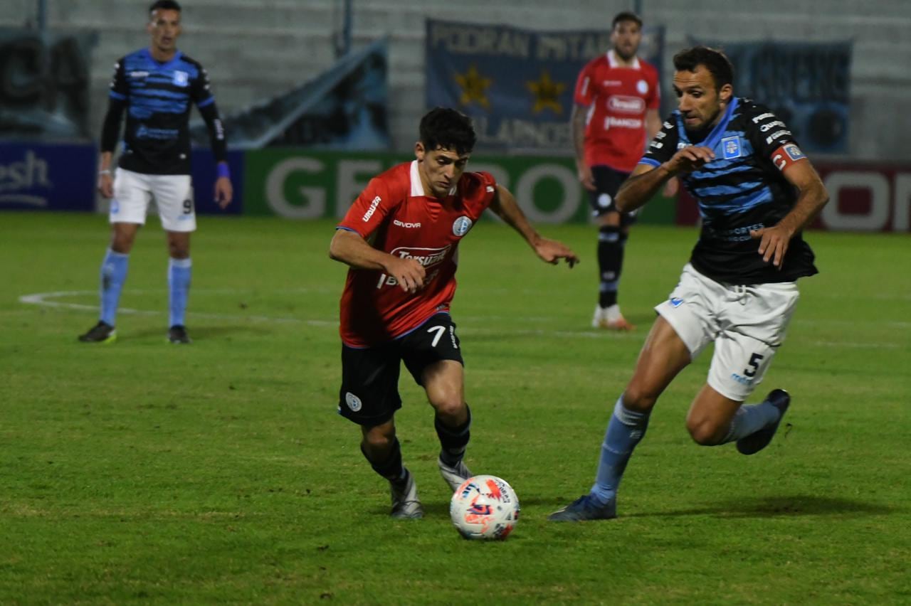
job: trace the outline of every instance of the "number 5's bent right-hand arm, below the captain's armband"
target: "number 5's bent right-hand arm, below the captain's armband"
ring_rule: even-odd
[[[763,261],[768,263],[771,259],[779,269],[782,268],[791,238],[808,226],[829,201],[829,192],[810,160],[794,162],[782,174],[797,188],[797,202],[791,212],[773,227],[750,232],[751,237],[759,240],[759,254],[763,256]]]

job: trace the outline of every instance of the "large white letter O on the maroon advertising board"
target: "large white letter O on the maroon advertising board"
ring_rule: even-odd
[[[823,222],[829,229],[881,231],[889,220],[889,182],[879,172],[836,171],[824,179],[831,198],[823,207]],[[843,188],[866,189],[870,193],[870,210],[865,215],[842,213],[838,207]]]

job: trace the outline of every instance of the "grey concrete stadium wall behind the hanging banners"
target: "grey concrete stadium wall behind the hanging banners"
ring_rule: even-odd
[[[104,114],[114,61],[148,44],[143,0],[47,0],[49,25],[96,30],[93,132]],[[36,0],[4,0],[0,26],[18,26]],[[186,0],[180,47],[207,67],[222,112],[286,90],[332,65],[343,0]],[[424,106],[424,20],[507,23],[538,29],[609,27],[632,2],[606,0],[353,0],[353,45],[389,36],[394,146],[409,148]],[[849,156],[911,159],[905,108],[911,104],[911,5],[907,0],[641,0],[647,23],[666,27],[666,65],[690,37],[722,41],[853,40]]]

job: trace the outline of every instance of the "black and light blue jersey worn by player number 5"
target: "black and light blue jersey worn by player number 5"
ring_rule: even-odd
[[[683,187],[699,203],[702,228],[691,263],[702,274],[730,284],[790,282],[816,273],[814,255],[801,234],[791,240],[781,269],[757,253],[750,231],[773,227],[794,206],[796,189],[774,158],[803,157],[791,130],[765,106],[735,97],[721,121],[701,140],[683,126],[675,110],[656,135],[640,164],[653,167],[686,146],[710,147],[715,159],[689,175]]]

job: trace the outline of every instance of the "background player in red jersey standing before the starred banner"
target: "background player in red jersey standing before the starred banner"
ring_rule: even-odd
[[[620,213],[614,196],[642,157],[646,137],[650,140],[661,127],[658,72],[636,56],[641,40],[640,18],[619,13],[611,25],[613,48],[589,61],[576,83],[571,119],[576,166],[599,223],[594,328],[633,328],[620,313],[617,288],[635,213]]]

